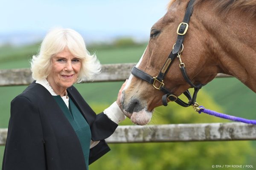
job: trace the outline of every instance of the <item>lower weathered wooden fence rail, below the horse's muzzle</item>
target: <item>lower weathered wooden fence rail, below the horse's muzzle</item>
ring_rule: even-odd
[[[0,129],[0,145],[6,143],[7,129]],[[238,122],[173,125],[126,125],[117,127],[108,143],[190,142],[256,140],[256,125]]]

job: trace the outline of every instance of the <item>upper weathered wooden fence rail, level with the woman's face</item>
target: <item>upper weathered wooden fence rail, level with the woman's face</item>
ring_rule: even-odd
[[[131,68],[136,63],[105,64],[102,73],[96,75],[93,82],[123,81],[128,79]],[[217,77],[231,77],[227,74],[218,74]],[[33,81],[29,68],[0,70],[0,86],[29,85]]]

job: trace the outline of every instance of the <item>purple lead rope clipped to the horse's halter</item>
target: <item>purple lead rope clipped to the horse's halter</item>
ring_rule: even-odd
[[[218,112],[206,109],[206,108],[204,108],[204,106],[199,106],[198,108],[200,109],[198,111],[198,113],[203,112],[203,113],[213,115],[213,116],[216,116],[216,117],[220,117],[220,118],[223,118],[223,119],[228,119],[228,120],[232,120],[232,121],[236,121],[236,122],[244,122],[244,123],[256,125],[256,120],[244,119],[244,118],[241,118],[241,117],[230,116],[230,115],[227,115],[227,114],[224,114],[224,113],[218,113]]]

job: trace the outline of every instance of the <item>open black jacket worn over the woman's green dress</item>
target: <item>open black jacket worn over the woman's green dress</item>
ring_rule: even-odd
[[[90,125],[93,141],[89,164],[110,149],[105,142],[117,127],[102,112],[98,115],[74,86],[68,95]],[[32,82],[11,102],[3,170],[86,170],[83,152],[73,127],[42,85]]]

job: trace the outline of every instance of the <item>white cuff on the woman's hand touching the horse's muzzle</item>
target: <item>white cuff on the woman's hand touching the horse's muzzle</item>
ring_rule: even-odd
[[[106,108],[103,112],[105,115],[108,116],[109,119],[111,119],[116,124],[118,124],[126,118],[125,114],[121,111],[116,102],[113,102],[113,104]]]

